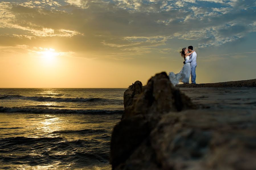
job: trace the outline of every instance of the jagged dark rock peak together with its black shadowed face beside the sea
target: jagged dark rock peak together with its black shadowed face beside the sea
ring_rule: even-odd
[[[127,160],[149,136],[161,114],[195,106],[171,84],[166,73],[159,73],[144,87],[139,81],[132,84],[124,92],[124,108],[122,121],[114,127],[110,144],[113,169]]]

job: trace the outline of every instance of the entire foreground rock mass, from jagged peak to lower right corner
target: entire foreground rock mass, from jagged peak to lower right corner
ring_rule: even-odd
[[[114,170],[256,167],[256,115],[196,109],[166,73],[130,86],[124,107],[110,144]]]

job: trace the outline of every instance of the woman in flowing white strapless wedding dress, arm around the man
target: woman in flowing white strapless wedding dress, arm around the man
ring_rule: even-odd
[[[181,57],[183,57],[185,61],[189,60],[189,55],[195,51],[192,51],[190,53],[187,53],[187,52],[188,52],[187,48],[182,48],[182,51],[180,52]],[[190,73],[191,73],[190,63],[186,63],[183,65],[179,73],[174,74],[173,72],[170,72],[169,79],[174,86],[176,84],[179,84],[179,82],[183,82],[184,84],[189,83]]]

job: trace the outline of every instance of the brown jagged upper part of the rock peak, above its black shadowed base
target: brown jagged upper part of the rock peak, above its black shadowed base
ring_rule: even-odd
[[[175,88],[167,74],[162,72],[150,78],[146,86],[142,87],[142,83],[136,81],[124,92],[124,115],[122,118],[192,108],[195,106],[190,98]]]

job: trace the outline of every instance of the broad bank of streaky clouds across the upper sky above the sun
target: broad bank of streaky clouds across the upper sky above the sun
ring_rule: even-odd
[[[155,48],[166,54],[170,39],[218,46],[256,31],[251,0],[10,1],[0,7],[1,45],[55,45],[102,57]]]

